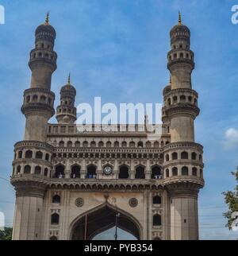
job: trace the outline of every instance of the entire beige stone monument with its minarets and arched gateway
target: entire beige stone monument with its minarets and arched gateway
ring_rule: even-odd
[[[47,18],[36,29],[32,82],[21,107],[25,138],[14,149],[13,239],[93,239],[115,225],[118,213],[118,227],[137,239],[198,239],[203,149],[194,142],[199,108],[190,29],[181,21],[171,29],[163,134],[153,140],[144,126],[78,130],[70,80],[60,91],[58,124],[48,123],[55,114],[55,39]]]

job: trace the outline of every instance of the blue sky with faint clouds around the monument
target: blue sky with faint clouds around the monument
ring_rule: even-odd
[[[232,0],[0,0],[6,24],[0,25],[0,176],[9,180],[13,144],[21,141],[25,117],[23,91],[29,87],[29,51],[34,30],[50,11],[56,28],[58,69],[52,91],[71,72],[77,103],[102,96],[107,103],[161,103],[168,83],[169,31],[182,12],[191,30],[196,68],[193,87],[201,114],[196,141],[205,147],[205,188],[200,192],[201,239],[236,239],[225,228],[221,192],[235,187],[238,147],[238,25],[232,25]],[[136,97],[135,97],[136,95]],[[0,180],[0,211],[13,221],[14,191]]]

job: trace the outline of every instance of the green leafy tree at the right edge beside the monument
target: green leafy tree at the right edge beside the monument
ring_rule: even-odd
[[[225,196],[225,204],[228,205],[228,211],[223,215],[226,219],[228,219],[226,227],[228,227],[230,230],[232,229],[232,222],[234,220],[232,219],[232,213],[238,211],[238,167],[236,169],[236,173],[232,172],[232,175],[236,178],[236,188],[234,191],[223,192],[223,195]]]

